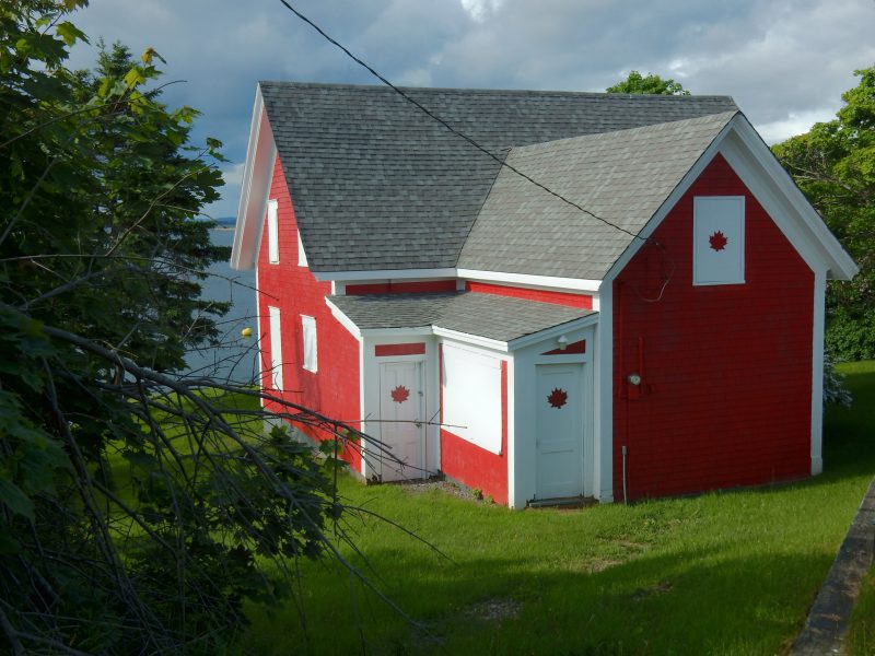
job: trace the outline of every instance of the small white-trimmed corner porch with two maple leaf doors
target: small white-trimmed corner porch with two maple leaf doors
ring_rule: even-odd
[[[435,473],[497,503],[592,495],[598,313],[475,292],[329,296],[361,344],[371,481]],[[386,456],[388,449],[390,456]]]

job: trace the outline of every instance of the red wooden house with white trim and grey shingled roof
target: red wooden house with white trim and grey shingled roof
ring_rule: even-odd
[[[406,464],[354,471],[518,508],[821,470],[856,267],[731,98],[408,93],[499,161],[389,89],[260,83],[232,255],[262,386]]]

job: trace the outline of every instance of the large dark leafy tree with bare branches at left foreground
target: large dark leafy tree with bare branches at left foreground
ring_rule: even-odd
[[[0,4],[0,651],[215,653],[284,559],[339,558],[342,506],[259,393],[174,373],[224,311],[199,300],[220,144],[189,144],[152,49],[65,68],[84,4]]]

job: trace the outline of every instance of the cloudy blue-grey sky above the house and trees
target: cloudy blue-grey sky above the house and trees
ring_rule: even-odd
[[[630,70],[731,95],[769,143],[829,120],[875,63],[875,0],[290,0],[397,84],[604,91]],[[91,0],[73,22],[166,60],[165,101],[225,143],[236,214],[258,80],[377,84],[280,0]],[[77,48],[72,63],[94,52]]]

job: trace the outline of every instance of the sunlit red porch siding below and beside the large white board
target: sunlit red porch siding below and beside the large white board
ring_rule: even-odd
[[[439,350],[443,372],[443,348]],[[441,380],[443,408],[443,380]],[[443,421],[443,413],[441,414]],[[495,503],[508,504],[508,363],[501,362],[501,453],[493,454],[441,430],[441,470],[472,489],[482,490]]]

